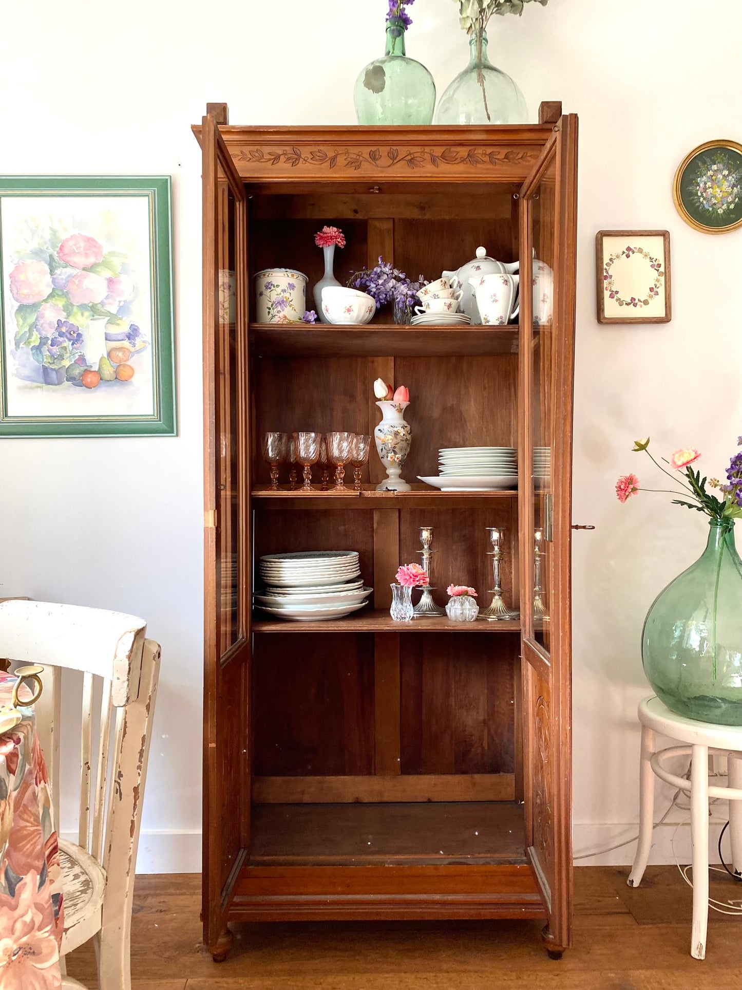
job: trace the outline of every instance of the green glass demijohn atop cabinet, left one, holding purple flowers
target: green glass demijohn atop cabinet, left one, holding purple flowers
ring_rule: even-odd
[[[435,107],[435,83],[424,65],[405,54],[405,22],[387,22],[382,58],[361,69],[353,89],[359,124],[429,124]]]

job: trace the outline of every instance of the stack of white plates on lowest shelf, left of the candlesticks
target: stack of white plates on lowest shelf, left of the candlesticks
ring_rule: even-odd
[[[320,622],[362,609],[372,588],[364,588],[355,550],[270,553],[260,557],[265,590],[255,604],[279,619]]]

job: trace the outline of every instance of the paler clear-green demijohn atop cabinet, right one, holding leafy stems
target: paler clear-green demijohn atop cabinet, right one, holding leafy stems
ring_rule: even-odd
[[[438,102],[436,124],[526,124],[528,108],[510,76],[487,57],[487,32],[469,41],[469,64]]]

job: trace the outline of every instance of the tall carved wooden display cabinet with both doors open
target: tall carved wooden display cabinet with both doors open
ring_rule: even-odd
[[[570,944],[570,528],[577,119],[488,128],[231,127],[203,149],[206,679],[204,940],[229,922],[542,918]],[[478,246],[553,271],[521,283],[519,326],[258,325],[263,267],[322,274],[313,235],[342,228],[341,279],[379,255],[413,276]],[[548,276],[547,276],[548,277]],[[546,313],[546,315],[544,315]],[[517,446],[517,491],[269,490],[266,430],[378,422],[372,382],[404,383],[413,445]],[[534,447],[551,473],[533,477]],[[317,476],[317,475],[316,475]],[[282,477],[282,481],[284,481]],[[491,588],[488,526],[508,536],[504,587],[520,620],[396,624],[390,582],[434,527],[436,597]],[[537,542],[535,531],[541,535]],[[534,553],[538,543],[538,561]],[[251,611],[271,551],[357,549],[370,607],[323,623]],[[539,578],[534,587],[538,563]]]

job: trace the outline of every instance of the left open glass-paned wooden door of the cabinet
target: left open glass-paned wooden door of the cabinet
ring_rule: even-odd
[[[246,198],[212,115],[203,119],[201,147],[207,410],[203,920],[204,940],[210,951],[219,952],[229,938],[225,911],[249,828]]]

